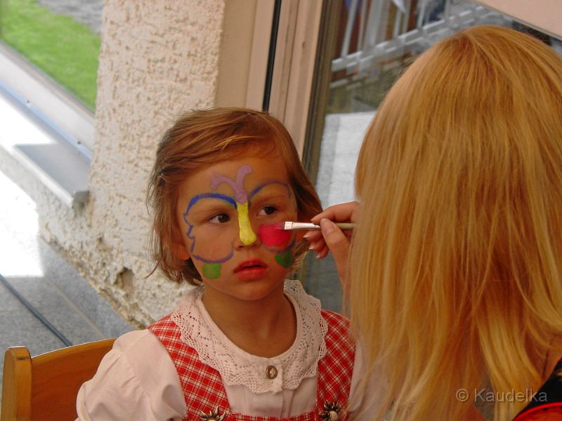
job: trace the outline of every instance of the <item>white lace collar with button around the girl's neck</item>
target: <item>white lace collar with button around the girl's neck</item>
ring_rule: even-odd
[[[244,385],[252,393],[277,393],[296,389],[301,381],[318,371],[318,360],[326,354],[327,322],[320,314],[320,301],[308,295],[299,281],[285,281],[285,295],[296,314],[296,338],[279,356],[265,358],[248,354],[222,333],[207,313],[201,296],[203,288],[191,290],[171,314],[181,340],[194,348],[203,363],[221,373],[226,385]],[[277,376],[266,377],[274,366]]]

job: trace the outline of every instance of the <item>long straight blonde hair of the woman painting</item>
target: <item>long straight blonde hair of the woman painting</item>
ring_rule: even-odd
[[[514,417],[507,393],[537,392],[562,332],[561,58],[502,27],[440,41],[379,108],[356,187],[350,311],[378,417],[463,420],[492,391]]]

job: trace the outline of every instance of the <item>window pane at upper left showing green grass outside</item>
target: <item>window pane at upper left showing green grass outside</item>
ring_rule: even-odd
[[[0,0],[0,82],[93,147],[103,0]]]

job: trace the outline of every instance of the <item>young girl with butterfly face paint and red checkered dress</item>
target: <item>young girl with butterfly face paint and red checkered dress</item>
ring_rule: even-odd
[[[346,419],[361,372],[348,323],[285,281],[306,245],[278,225],[320,202],[282,124],[249,109],[181,116],[149,200],[157,267],[197,288],[117,339],[80,389],[79,419]]]

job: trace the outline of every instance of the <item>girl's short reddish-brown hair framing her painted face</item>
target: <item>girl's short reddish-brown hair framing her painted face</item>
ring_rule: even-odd
[[[197,109],[180,116],[159,142],[148,182],[152,207],[152,257],[171,281],[198,285],[201,275],[191,260],[178,258],[181,229],[176,206],[178,185],[215,163],[242,156],[280,156],[296,198],[299,218],[310,220],[322,210],[320,199],[303,169],[291,135],[266,112],[245,108]],[[301,242],[296,262],[306,251]]]

